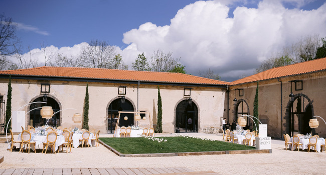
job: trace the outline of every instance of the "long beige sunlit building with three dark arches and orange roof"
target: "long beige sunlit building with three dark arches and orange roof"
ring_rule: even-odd
[[[13,113],[25,104],[44,101],[43,96],[47,96],[47,103],[32,103],[19,109],[25,114],[23,127],[48,122],[52,126],[81,128],[82,123],[73,122],[72,116],[76,112],[83,113],[88,83],[89,127],[100,129],[102,133],[114,132],[118,111],[147,111],[155,126],[157,86],[162,98],[164,132],[175,132],[178,128],[198,132],[220,125],[226,86],[230,84],[182,73],[43,66],[0,71],[0,94],[5,101],[9,75],[12,77]],[[39,107],[44,105],[58,112],[49,121],[40,115]],[[128,119],[122,119],[124,116]],[[123,113],[120,118],[119,125],[136,124],[133,114]],[[139,125],[148,127],[149,117],[145,118]],[[192,118],[191,124],[187,122],[189,118]],[[1,122],[4,122],[4,115]]]

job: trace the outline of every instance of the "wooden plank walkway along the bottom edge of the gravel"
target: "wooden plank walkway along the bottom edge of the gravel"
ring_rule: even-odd
[[[144,174],[219,174],[214,171],[194,171],[187,167],[143,168],[10,168],[0,169],[0,175],[144,175]]]

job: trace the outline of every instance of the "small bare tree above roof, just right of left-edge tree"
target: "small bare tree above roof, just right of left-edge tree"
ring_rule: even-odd
[[[26,54],[21,53],[19,48],[16,48],[16,53],[13,55],[18,60],[18,68],[32,68],[38,66],[38,59],[33,55],[35,53],[31,52],[31,47],[28,46],[28,51]]]

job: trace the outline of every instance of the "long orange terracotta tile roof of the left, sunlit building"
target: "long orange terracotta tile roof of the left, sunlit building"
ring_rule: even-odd
[[[154,71],[135,71],[118,70],[104,68],[82,68],[82,67],[35,67],[17,70],[2,70],[1,74],[12,75],[32,75],[48,77],[73,77],[73,78],[92,78],[108,80],[132,80],[132,81],[152,81],[152,82],[170,82],[170,83],[194,83],[210,85],[228,85],[230,82],[203,78],[199,76]]]

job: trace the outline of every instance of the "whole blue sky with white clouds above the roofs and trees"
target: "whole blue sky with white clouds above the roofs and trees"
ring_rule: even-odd
[[[326,36],[325,0],[1,0],[0,12],[34,53],[44,42],[78,56],[83,42],[100,39],[129,67],[137,54],[161,49],[188,73],[210,68],[226,80],[252,74],[305,35]]]

